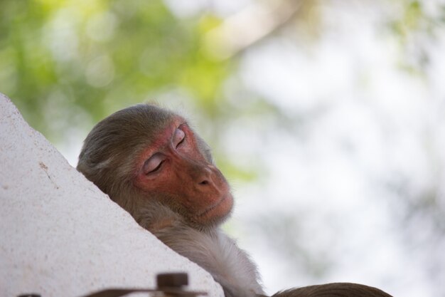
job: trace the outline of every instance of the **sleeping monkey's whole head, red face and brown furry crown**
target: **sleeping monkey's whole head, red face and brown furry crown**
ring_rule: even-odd
[[[187,121],[155,105],[134,105],[98,123],[85,139],[77,170],[136,220],[173,212],[197,228],[230,214],[233,198],[208,145]]]

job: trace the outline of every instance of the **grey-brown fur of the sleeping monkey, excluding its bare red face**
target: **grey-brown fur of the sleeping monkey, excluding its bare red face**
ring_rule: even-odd
[[[155,105],[135,105],[110,115],[98,123],[85,139],[77,170],[164,244],[209,271],[223,286],[226,297],[264,296],[256,266],[245,251],[220,230],[219,226],[230,215],[230,209],[223,217],[198,222],[192,219],[193,215],[188,213],[190,209],[183,207],[180,201],[185,199],[190,203],[190,199],[194,199],[194,203],[202,204],[205,197],[182,197],[181,184],[186,186],[183,180],[175,181],[179,186],[167,184],[168,187],[179,188],[174,194],[160,193],[157,189],[146,192],[144,187],[136,187],[141,155],[174,121],[185,122],[179,115]],[[199,159],[189,160],[194,170],[199,171],[200,166],[215,169],[208,145],[193,130],[191,135],[197,151],[193,154]],[[215,172],[220,183],[224,183],[219,170]],[[144,178],[141,175],[142,182],[139,183],[151,189],[150,180]],[[303,296],[389,297],[376,288],[353,283],[294,288],[274,295]]]

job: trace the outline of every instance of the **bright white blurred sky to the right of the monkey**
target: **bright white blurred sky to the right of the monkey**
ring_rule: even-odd
[[[284,131],[238,125],[235,137],[244,139],[227,142],[229,149],[236,143],[240,160],[262,156],[270,170],[267,180],[237,189],[243,200],[235,212],[240,236],[247,237],[240,243],[259,264],[269,293],[314,281],[355,281],[394,296],[434,296],[424,261],[436,249],[404,246],[390,207],[409,195],[399,197],[385,183],[402,177],[413,196],[437,184],[444,190],[445,39],[435,44],[427,79],[409,75],[397,68],[400,49],[378,27],[377,13],[328,9],[326,33],[316,46],[277,37],[242,59],[247,88],[290,118],[305,117]],[[276,231],[315,254],[328,250],[334,269],[314,280],[286,261],[267,231],[251,236],[258,214],[267,218],[271,209],[303,215],[302,226],[291,221],[290,231]]]

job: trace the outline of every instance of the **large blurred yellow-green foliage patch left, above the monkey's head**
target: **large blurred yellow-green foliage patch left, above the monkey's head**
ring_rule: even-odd
[[[0,91],[55,142],[169,89],[212,114],[230,64],[201,43],[218,22],[178,19],[160,0],[2,1]]]

